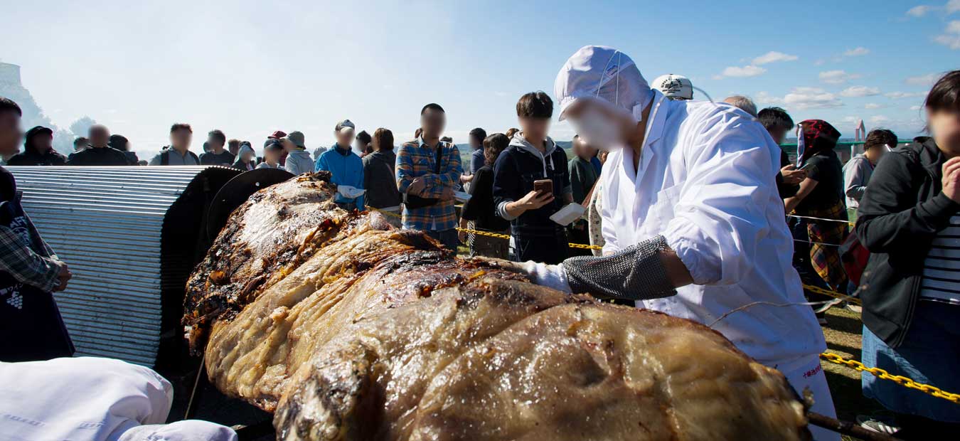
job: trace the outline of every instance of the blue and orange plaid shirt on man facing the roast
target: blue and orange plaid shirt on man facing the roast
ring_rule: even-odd
[[[434,173],[437,169],[437,146],[424,144],[422,137],[400,146],[396,152],[396,186],[400,193],[406,193],[415,178],[420,178],[426,184],[420,195],[425,198],[439,198],[444,187],[454,187],[460,182],[460,175],[464,172],[460,166],[460,150],[456,145],[441,144],[440,174]],[[403,208],[405,229],[440,232],[456,227],[457,211],[453,208],[452,200],[424,208]]]

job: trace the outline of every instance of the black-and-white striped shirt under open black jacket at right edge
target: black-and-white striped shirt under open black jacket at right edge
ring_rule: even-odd
[[[930,245],[920,296],[960,304],[960,215],[951,217]]]

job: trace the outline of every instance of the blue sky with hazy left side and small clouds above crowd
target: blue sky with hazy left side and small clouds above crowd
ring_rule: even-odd
[[[179,121],[196,151],[214,128],[254,146],[276,129],[329,145],[343,118],[406,139],[428,102],[465,142],[473,127],[515,126],[519,95],[552,94],[586,44],[716,100],[746,94],[844,135],[862,118],[911,137],[924,91],[960,68],[960,0],[137,3],[8,2],[0,60],[22,66],[56,124],[86,114],[145,153]]]

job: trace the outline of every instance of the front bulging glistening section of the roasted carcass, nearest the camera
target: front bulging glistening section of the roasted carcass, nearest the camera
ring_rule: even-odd
[[[289,441],[807,435],[780,373],[717,332],[491,279],[358,322],[300,369],[274,424]]]

